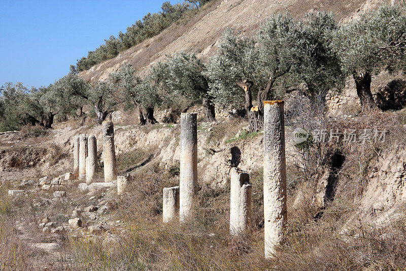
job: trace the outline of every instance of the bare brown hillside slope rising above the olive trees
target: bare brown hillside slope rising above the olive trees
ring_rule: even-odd
[[[97,64],[80,76],[87,81],[105,80],[109,73],[124,62],[139,71],[150,64],[179,50],[195,52],[207,57],[216,48],[221,33],[233,27],[245,34],[255,33],[259,24],[268,16],[288,11],[301,18],[313,11],[331,11],[341,21],[355,18],[358,13],[376,8],[384,0],[223,0],[209,2],[191,18],[168,27],[161,34],[121,52],[115,58]],[[392,0],[393,2],[393,0]]]

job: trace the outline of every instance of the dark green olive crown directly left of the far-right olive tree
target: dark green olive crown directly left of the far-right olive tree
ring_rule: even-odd
[[[334,44],[339,26],[332,13],[317,12],[308,13],[298,28],[293,75],[306,85],[303,93],[311,101],[316,97],[324,101],[327,91],[340,90],[345,82],[341,58]]]

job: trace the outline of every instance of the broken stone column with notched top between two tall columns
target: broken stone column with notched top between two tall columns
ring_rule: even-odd
[[[230,233],[239,235],[251,221],[250,175],[233,167],[230,182]]]

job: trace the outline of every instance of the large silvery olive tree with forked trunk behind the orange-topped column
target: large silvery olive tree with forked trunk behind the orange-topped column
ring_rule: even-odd
[[[263,101],[270,98],[275,83],[295,64],[299,38],[297,25],[287,14],[267,19],[255,39],[227,29],[218,53],[209,59],[210,95],[222,105],[238,106],[245,101],[250,131],[259,131],[263,126]],[[255,96],[256,106],[252,101]]]

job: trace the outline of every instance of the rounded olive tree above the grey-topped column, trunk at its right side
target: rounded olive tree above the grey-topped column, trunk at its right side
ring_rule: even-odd
[[[190,101],[202,100],[205,109],[205,121],[216,120],[212,97],[209,95],[208,78],[205,75],[205,63],[194,53],[184,51],[166,55],[164,62],[152,68],[163,92],[172,96],[183,96]]]

